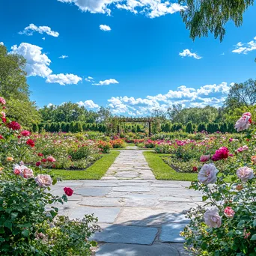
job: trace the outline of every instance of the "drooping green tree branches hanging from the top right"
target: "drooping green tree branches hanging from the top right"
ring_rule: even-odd
[[[243,13],[254,4],[254,0],[179,0],[186,5],[181,16],[190,37],[207,37],[208,33],[219,37],[225,36],[225,24],[232,20],[239,27],[243,23]]]

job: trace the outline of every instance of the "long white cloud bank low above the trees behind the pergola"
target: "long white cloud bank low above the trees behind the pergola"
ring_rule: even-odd
[[[116,115],[150,115],[153,109],[166,110],[178,103],[183,107],[222,106],[231,85],[222,82],[219,85],[204,85],[197,89],[181,85],[177,90],[170,90],[166,94],[148,95],[145,98],[112,97],[108,100],[108,106]]]

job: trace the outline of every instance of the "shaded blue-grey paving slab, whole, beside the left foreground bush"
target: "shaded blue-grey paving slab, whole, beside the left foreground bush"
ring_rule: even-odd
[[[157,228],[112,225],[95,234],[92,239],[105,243],[151,245],[156,238],[157,231]]]

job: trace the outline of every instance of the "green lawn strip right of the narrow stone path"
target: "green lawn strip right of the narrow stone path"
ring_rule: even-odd
[[[147,163],[156,180],[186,180],[194,181],[198,179],[198,174],[180,173],[174,171],[169,165],[167,165],[161,159],[161,156],[168,156],[168,154],[157,154],[153,152],[143,152]]]

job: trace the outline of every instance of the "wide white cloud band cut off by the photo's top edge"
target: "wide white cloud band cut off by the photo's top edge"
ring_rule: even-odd
[[[107,13],[111,7],[129,10],[132,13],[143,13],[150,18],[172,14],[184,10],[186,7],[165,0],[58,0],[63,3],[75,4],[82,11],[90,13]]]

